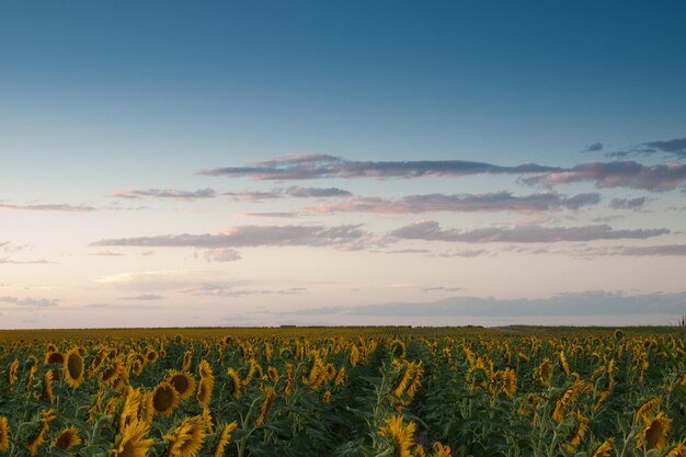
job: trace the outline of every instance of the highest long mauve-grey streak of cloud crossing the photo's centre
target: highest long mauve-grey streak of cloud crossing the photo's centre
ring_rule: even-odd
[[[545,167],[535,163],[499,167],[465,160],[354,161],[322,153],[300,153],[254,162],[249,167],[202,170],[197,174],[227,178],[250,176],[258,181],[288,181],[322,178],[464,176],[479,173],[529,174],[560,170],[557,167]]]

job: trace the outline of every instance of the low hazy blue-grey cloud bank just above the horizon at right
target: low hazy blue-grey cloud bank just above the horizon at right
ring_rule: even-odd
[[[431,302],[392,302],[357,307],[300,309],[291,315],[367,317],[539,317],[681,315],[686,293],[627,295],[618,292],[558,294],[546,298],[450,297]]]

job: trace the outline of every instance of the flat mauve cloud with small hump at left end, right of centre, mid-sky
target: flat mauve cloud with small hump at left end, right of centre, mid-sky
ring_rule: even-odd
[[[488,242],[560,242],[617,239],[647,239],[668,233],[667,229],[614,230],[607,225],[583,227],[540,227],[482,228],[460,231],[442,229],[434,220],[424,220],[393,230],[390,236],[409,240],[460,241],[469,243]]]

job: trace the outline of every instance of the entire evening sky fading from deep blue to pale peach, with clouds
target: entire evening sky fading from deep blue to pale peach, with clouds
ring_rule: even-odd
[[[0,328],[675,324],[684,18],[1,2]]]

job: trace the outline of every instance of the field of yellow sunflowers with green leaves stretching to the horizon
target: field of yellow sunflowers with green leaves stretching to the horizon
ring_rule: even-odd
[[[664,330],[0,331],[0,456],[686,457]]]

